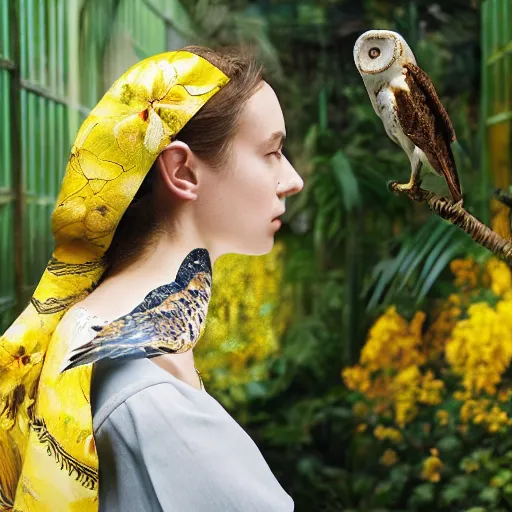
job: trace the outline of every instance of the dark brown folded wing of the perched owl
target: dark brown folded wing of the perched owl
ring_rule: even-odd
[[[405,68],[409,91],[394,91],[398,120],[404,133],[444,177],[453,201],[458,202],[462,199],[462,192],[450,146],[456,140],[452,123],[429,76],[414,64],[406,64]]]

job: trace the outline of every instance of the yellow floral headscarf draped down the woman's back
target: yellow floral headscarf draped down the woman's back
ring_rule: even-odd
[[[92,364],[60,374],[70,340],[56,328],[97,285],[158,154],[228,81],[193,53],[156,55],[119,78],[81,126],[52,216],[54,253],[0,338],[0,512],[98,510]]]

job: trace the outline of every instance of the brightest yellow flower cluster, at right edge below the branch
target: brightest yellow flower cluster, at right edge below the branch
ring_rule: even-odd
[[[493,395],[512,360],[512,300],[473,304],[446,345],[446,360],[461,375],[464,388]]]

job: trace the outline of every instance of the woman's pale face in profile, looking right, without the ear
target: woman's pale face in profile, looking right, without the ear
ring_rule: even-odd
[[[281,152],[285,134],[277,96],[264,82],[243,108],[226,166],[201,173],[196,219],[218,254],[272,249],[280,227],[274,219],[285,210],[285,197],[304,185]]]

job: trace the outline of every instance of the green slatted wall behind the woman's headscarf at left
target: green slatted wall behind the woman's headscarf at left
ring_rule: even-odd
[[[176,0],[0,0],[0,332],[50,258],[81,122],[130,65],[182,46],[186,22]]]

